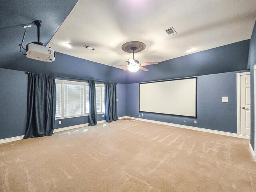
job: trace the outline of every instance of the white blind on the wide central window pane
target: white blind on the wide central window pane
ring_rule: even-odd
[[[64,83],[64,117],[84,115],[84,86]]]

